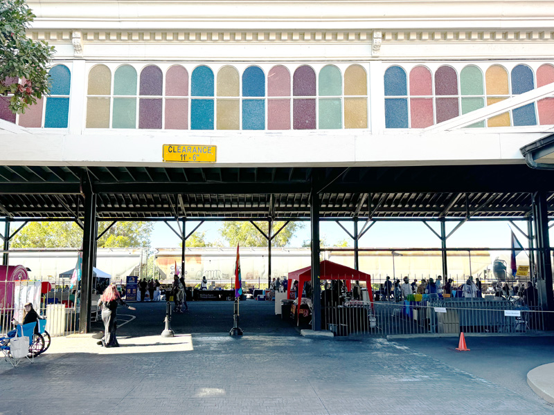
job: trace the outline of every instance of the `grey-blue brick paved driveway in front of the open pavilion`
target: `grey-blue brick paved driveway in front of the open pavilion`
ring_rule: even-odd
[[[273,304],[252,303],[271,315]],[[269,323],[267,333],[242,338],[188,335],[176,324],[177,338],[165,340],[161,324],[156,333],[146,330],[150,306],[140,304],[137,318],[121,327],[118,349],[102,349],[89,335],[56,338],[33,365],[0,362],[0,413],[554,414],[536,396],[402,342],[314,340],[294,329],[271,332]],[[152,305],[152,320],[161,307]],[[147,333],[129,335],[138,331]],[[479,352],[472,356],[479,360]]]

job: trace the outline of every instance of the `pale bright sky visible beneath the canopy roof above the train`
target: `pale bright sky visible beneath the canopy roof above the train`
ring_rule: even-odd
[[[304,222],[303,229],[298,230],[289,246],[302,246],[303,241],[310,239],[310,223]],[[321,237],[325,237],[328,246],[346,239],[353,247],[352,239],[335,222],[320,222]],[[457,222],[447,223],[447,234],[456,226]],[[527,232],[525,222],[515,222],[521,230]],[[171,223],[175,228],[175,223]],[[187,232],[193,230],[198,222],[190,221],[186,224]],[[206,241],[222,239],[218,229],[222,222],[204,222],[197,232],[206,232]],[[361,230],[364,223],[359,222]],[[436,232],[440,233],[438,223],[429,223]],[[353,232],[353,224],[343,222],[343,226]],[[461,225],[447,240],[447,248],[510,248],[510,226],[508,221],[468,221]],[[526,237],[519,230],[513,228],[517,239],[524,248],[528,247]],[[551,232],[551,241],[554,241],[554,232]],[[152,248],[177,248],[181,240],[163,222],[154,223],[152,232]],[[440,240],[421,222],[377,222],[359,241],[360,248],[440,248]]]

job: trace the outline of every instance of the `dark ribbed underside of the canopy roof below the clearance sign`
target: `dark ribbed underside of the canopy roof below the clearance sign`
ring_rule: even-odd
[[[348,219],[517,218],[554,172],[525,165],[435,167],[45,167],[0,166],[0,216],[82,216],[80,181],[98,194],[99,219],[303,219],[309,195],[321,216]]]

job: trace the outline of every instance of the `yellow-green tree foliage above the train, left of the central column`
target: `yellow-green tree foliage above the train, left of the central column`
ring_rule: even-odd
[[[268,222],[256,221],[256,225],[267,234]],[[271,234],[275,234],[283,225],[285,222],[274,222]],[[303,223],[289,222],[273,239],[271,246],[288,246],[294,232],[303,227]],[[237,243],[240,243],[241,246],[267,246],[267,239],[250,222],[224,222],[219,232],[229,246],[237,246]]]

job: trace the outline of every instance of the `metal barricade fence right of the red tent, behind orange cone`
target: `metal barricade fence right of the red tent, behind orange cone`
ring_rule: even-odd
[[[509,301],[444,300],[404,304],[352,300],[321,307],[321,329],[335,335],[427,333],[538,333],[554,312],[517,307]]]

